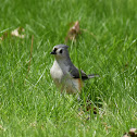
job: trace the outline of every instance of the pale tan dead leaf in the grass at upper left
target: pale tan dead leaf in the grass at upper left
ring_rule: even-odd
[[[23,34],[25,29],[23,27],[17,27],[16,29],[11,32],[12,36],[18,37],[18,38],[24,38],[25,35]]]

